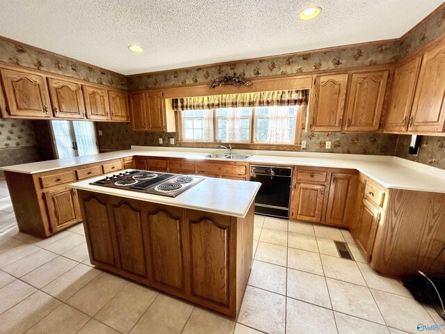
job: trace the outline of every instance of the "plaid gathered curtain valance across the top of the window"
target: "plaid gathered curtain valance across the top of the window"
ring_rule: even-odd
[[[182,111],[252,106],[300,106],[307,104],[307,93],[307,90],[275,90],[271,92],[184,97],[173,100],[173,109]]]

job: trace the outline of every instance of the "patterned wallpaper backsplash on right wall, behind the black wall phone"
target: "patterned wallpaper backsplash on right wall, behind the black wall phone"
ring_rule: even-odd
[[[411,136],[399,136],[396,157],[445,169],[445,137],[423,136],[419,154],[416,156],[408,153],[410,141]]]

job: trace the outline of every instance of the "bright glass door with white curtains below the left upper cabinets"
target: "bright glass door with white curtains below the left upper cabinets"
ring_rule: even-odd
[[[51,120],[51,131],[58,159],[99,153],[93,122]]]

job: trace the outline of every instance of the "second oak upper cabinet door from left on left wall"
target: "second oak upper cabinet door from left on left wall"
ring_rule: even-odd
[[[55,117],[85,117],[81,85],[75,82],[49,78],[48,86]]]

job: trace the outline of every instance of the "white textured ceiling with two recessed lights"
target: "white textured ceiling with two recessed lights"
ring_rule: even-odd
[[[0,0],[0,35],[122,74],[399,38],[442,0]],[[309,5],[320,16],[302,21]],[[128,45],[144,47],[134,54]]]

